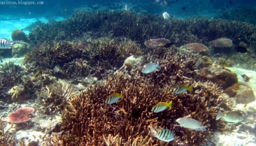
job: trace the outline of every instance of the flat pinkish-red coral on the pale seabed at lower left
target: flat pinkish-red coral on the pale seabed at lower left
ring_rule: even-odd
[[[23,107],[19,108],[15,112],[9,114],[9,120],[12,123],[26,122],[31,119],[31,114],[35,109],[33,107]]]

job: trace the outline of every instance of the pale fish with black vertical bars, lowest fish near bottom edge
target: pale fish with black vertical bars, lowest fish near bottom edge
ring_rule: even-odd
[[[169,129],[151,128],[150,135],[164,142],[173,141],[175,138],[173,131]]]

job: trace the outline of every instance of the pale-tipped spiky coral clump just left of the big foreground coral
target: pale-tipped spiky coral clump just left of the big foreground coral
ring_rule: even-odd
[[[71,85],[63,81],[55,82],[37,92],[38,110],[43,114],[62,112],[67,100],[75,94]]]

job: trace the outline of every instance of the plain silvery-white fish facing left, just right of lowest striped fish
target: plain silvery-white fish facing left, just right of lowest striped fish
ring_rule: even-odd
[[[188,117],[178,118],[176,122],[179,123],[182,127],[197,131],[201,130],[202,132],[204,132],[205,128],[207,128],[207,126],[202,126],[201,122]]]

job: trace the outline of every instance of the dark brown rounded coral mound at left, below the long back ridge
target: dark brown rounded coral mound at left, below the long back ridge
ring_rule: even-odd
[[[33,63],[43,69],[53,69],[57,65],[63,66],[64,63],[80,58],[81,53],[77,45],[71,42],[45,42],[26,55],[24,64]]]

